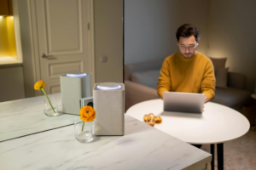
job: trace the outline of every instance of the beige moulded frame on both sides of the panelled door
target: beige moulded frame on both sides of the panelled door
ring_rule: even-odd
[[[17,1],[17,0],[15,0]],[[89,30],[89,62],[90,62],[90,73],[91,77],[91,86],[95,83],[95,45],[94,45],[94,1],[87,0],[89,3],[89,20],[90,20],[90,30]],[[37,15],[36,15],[36,4],[35,0],[26,0],[27,5],[27,14],[24,14],[24,17],[27,20],[27,25],[24,24],[23,36],[26,38],[26,43],[22,44],[22,53],[24,59],[23,69],[32,69],[32,71],[26,71],[24,74],[24,82],[25,82],[25,92],[26,98],[43,95],[41,91],[34,90],[32,88],[35,82],[41,80],[41,69],[40,69],[40,61],[39,57],[39,44],[38,44],[38,29],[37,29]],[[21,13],[20,13],[21,14]],[[23,15],[23,14],[22,14]],[[29,38],[27,38],[29,35]],[[21,35],[22,37],[22,35]],[[93,87],[93,86],[92,86]],[[32,92],[33,91],[33,92]],[[32,94],[34,94],[32,96]]]

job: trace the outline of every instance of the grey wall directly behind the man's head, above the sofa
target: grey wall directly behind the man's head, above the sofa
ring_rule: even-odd
[[[192,24],[200,31],[198,51],[207,53],[205,0],[125,0],[125,65],[165,59],[177,52],[175,33]]]

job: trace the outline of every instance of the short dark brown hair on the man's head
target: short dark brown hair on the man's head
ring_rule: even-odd
[[[197,42],[199,31],[197,30],[197,28],[195,28],[195,26],[192,26],[190,24],[184,24],[183,26],[180,26],[177,29],[177,32],[176,32],[177,42],[179,40],[179,37],[190,37],[190,36],[194,36],[195,41]]]

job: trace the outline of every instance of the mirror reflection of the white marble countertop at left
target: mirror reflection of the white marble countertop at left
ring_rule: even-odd
[[[61,110],[61,94],[55,96]],[[0,141],[15,139],[32,133],[72,125],[76,116],[44,115],[44,96],[0,103]]]

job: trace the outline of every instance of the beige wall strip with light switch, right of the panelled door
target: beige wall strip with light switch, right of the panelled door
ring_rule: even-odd
[[[122,18],[122,0],[94,0],[96,82],[123,82]]]

